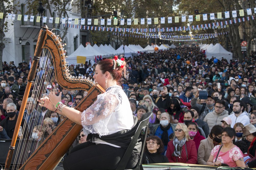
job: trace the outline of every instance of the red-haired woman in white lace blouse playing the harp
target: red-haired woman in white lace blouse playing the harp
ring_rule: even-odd
[[[41,98],[41,106],[67,116],[70,120],[81,124],[88,130],[87,142],[73,148],[64,162],[64,169],[115,169],[123,157],[134,133],[124,137],[125,132],[134,126],[129,100],[119,80],[126,75],[126,63],[115,56],[100,61],[93,76],[105,93],[98,95],[97,100],[83,112],[66,107],[61,102],[61,94],[49,94],[49,98]],[[57,106],[57,108],[56,108]],[[134,129],[134,128],[133,128]],[[130,130],[132,131],[132,130]],[[135,132],[135,131],[134,131]],[[113,138],[115,140],[113,140]],[[89,139],[89,141],[88,141]],[[97,144],[97,145],[96,145]],[[138,161],[138,152],[134,152],[126,168],[133,168]],[[88,154],[89,153],[89,154]]]

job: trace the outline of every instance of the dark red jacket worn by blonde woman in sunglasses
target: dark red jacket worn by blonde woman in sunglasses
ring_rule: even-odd
[[[188,152],[188,161],[187,161],[185,144],[182,147],[181,156],[179,158],[176,156],[172,156],[175,148],[173,145],[173,140],[169,141],[168,145],[167,145],[167,151],[166,151],[166,157],[168,158],[169,162],[176,163],[178,160],[178,163],[196,164],[197,151],[196,151],[195,142],[193,140],[189,139],[188,141],[186,141],[186,147],[187,147],[187,152]]]

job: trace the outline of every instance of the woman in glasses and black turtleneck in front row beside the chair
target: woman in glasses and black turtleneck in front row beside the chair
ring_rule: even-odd
[[[162,140],[157,136],[150,136],[146,139],[145,152],[142,157],[142,164],[168,163],[166,156],[161,153],[164,150]]]

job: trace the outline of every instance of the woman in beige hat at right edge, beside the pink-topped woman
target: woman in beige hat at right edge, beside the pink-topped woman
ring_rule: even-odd
[[[256,156],[256,127],[252,124],[245,125],[243,127],[243,137],[251,142],[247,154],[251,157],[251,159],[253,159]],[[256,159],[249,161],[246,167],[255,168]]]

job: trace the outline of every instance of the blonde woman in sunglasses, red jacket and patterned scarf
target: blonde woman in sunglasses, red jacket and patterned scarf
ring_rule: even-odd
[[[185,124],[177,124],[173,140],[168,143],[166,157],[170,163],[196,164],[196,145],[189,138],[188,128]]]

